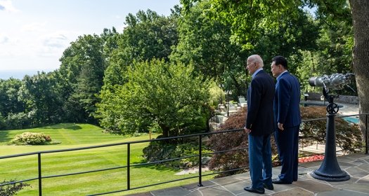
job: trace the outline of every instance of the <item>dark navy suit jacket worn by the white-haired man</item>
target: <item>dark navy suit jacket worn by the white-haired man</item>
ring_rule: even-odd
[[[273,99],[275,91],[273,78],[261,70],[251,80],[247,90],[246,128],[254,136],[266,136],[276,128],[273,115]]]

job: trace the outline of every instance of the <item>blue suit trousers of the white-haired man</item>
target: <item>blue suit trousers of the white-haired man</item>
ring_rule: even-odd
[[[252,188],[271,185],[271,135],[252,136],[249,134],[249,161]]]

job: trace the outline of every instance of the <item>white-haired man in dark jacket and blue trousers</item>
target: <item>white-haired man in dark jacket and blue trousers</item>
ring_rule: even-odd
[[[245,132],[249,134],[249,160],[252,186],[244,190],[264,194],[265,189],[273,190],[271,181],[271,133],[276,123],[273,116],[275,83],[263,70],[263,60],[259,55],[247,58],[246,69],[252,75],[247,90],[247,119]]]

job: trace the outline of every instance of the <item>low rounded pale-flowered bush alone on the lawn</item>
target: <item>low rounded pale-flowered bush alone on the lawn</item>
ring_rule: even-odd
[[[24,132],[18,134],[11,141],[11,144],[22,144],[22,145],[44,145],[50,144],[51,137],[43,133],[32,133]]]

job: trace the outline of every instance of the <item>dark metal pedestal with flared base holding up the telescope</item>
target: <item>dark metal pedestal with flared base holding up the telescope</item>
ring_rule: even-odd
[[[327,106],[328,121],[325,135],[325,155],[321,167],[311,173],[311,176],[322,181],[347,181],[350,179],[350,176],[339,167],[336,155],[335,116],[338,112],[338,106],[333,103],[333,96],[328,96],[328,93],[324,91],[323,94],[330,102]]]

